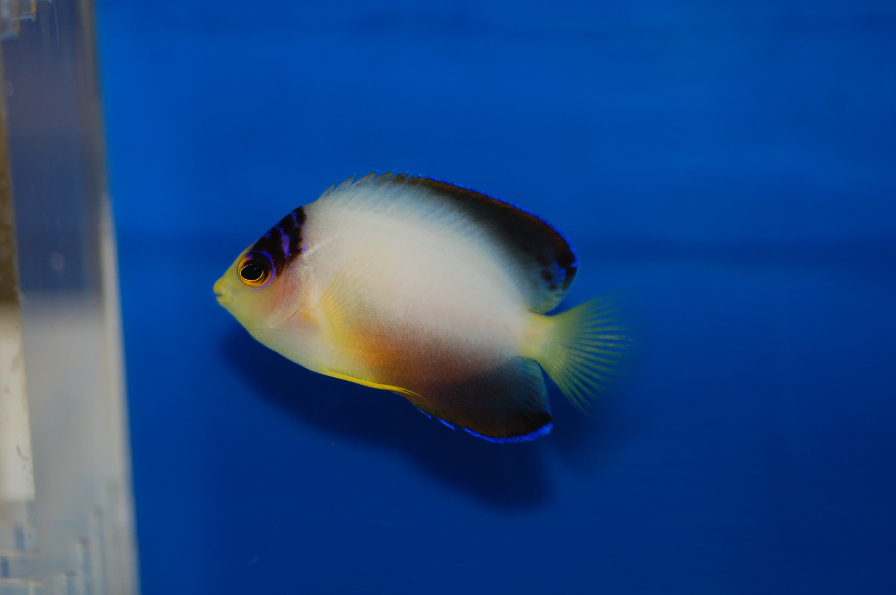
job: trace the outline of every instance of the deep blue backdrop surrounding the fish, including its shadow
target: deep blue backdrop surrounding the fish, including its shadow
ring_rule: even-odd
[[[896,592],[892,0],[99,0],[144,595]],[[211,284],[396,168],[641,285],[599,416],[498,446],[255,344]]]

